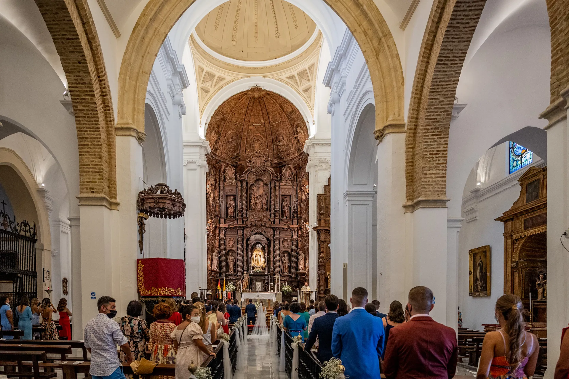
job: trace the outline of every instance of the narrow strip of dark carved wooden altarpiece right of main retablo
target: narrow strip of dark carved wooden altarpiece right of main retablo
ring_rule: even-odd
[[[330,294],[330,177],[324,193],[316,195],[318,224],[314,227],[318,243],[318,299]]]

